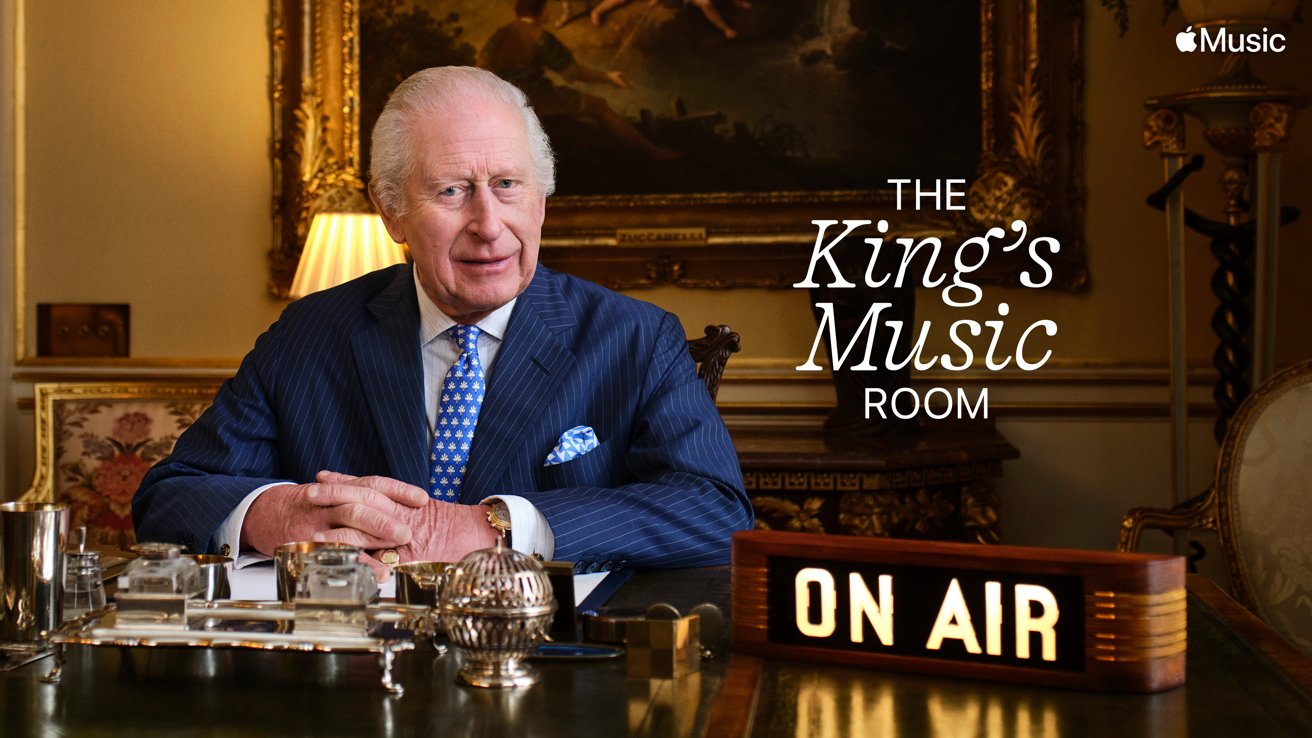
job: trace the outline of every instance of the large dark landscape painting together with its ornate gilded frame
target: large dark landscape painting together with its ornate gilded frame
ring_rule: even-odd
[[[1088,286],[1077,4],[270,1],[276,294],[314,213],[367,207],[387,95],[440,64],[525,91],[558,154],[542,260],[607,286],[789,288],[845,218],[945,244],[1025,219],[1061,240],[1051,286]],[[892,179],[968,207],[899,210]]]

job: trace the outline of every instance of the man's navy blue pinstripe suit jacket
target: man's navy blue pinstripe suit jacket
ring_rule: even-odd
[[[539,267],[497,353],[462,502],[522,495],[579,569],[728,562],[752,508],[685,340],[674,315]],[[426,487],[421,373],[409,267],[291,303],[142,481],[138,538],[214,550],[252,490],[323,469]],[[601,445],[543,466],[575,425]]]

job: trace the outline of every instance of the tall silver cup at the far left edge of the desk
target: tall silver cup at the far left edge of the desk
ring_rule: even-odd
[[[59,626],[67,507],[0,504],[0,641],[31,643]]]

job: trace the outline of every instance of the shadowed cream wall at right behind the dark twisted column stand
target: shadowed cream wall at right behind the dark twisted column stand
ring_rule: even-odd
[[[1088,5],[1097,5],[1086,3]],[[1215,58],[1181,54],[1174,35],[1183,22],[1173,16],[1160,22],[1152,3],[1135,3],[1131,30],[1118,38],[1110,14],[1098,7],[1088,18],[1088,192],[1092,271],[1094,289],[1088,302],[1069,302],[1071,314],[1061,322],[1080,343],[1097,355],[1155,357],[1166,353],[1166,261],[1165,221],[1144,205],[1144,197],[1161,185],[1160,156],[1144,150],[1140,131],[1148,97],[1182,92],[1208,81],[1219,64]],[[1312,88],[1312,28],[1298,26],[1287,54],[1262,55],[1254,72],[1273,85]],[[1220,156],[1202,141],[1197,121],[1187,121],[1189,146],[1207,156],[1207,167],[1185,189],[1186,205],[1208,218],[1221,219],[1224,200]],[[1294,142],[1286,154],[1282,202],[1303,210],[1303,218],[1283,228],[1281,239],[1279,341],[1277,361],[1288,364],[1312,356],[1312,336],[1303,328],[1312,315],[1307,276],[1312,268],[1312,130],[1294,126]],[[1195,361],[1207,360],[1215,339],[1210,318],[1216,305],[1208,282],[1215,260],[1206,239],[1191,234],[1189,260],[1189,340]],[[1055,306],[1056,310],[1063,307]]]

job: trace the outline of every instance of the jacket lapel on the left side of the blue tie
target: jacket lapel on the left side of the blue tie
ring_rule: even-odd
[[[378,322],[352,336],[350,345],[375,432],[391,475],[426,488],[428,419],[411,269],[398,269],[392,284],[369,303],[369,311]]]

